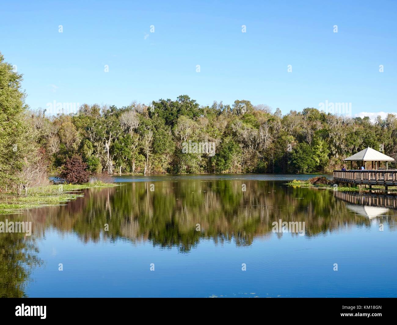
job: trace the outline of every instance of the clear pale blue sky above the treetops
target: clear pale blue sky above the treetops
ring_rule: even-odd
[[[397,112],[396,1],[2,1],[0,8],[0,51],[24,75],[33,109],[187,94],[209,105],[248,99],[283,114],[326,101],[351,103],[353,116]]]

